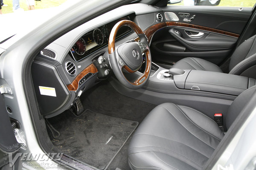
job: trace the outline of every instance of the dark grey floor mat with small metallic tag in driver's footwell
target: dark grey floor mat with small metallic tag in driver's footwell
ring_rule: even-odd
[[[65,153],[99,169],[104,169],[110,164],[138,126],[138,122],[90,110],[84,111],[79,117],[66,111],[48,121],[60,132],[57,138],[49,133],[54,145],[52,150]]]

